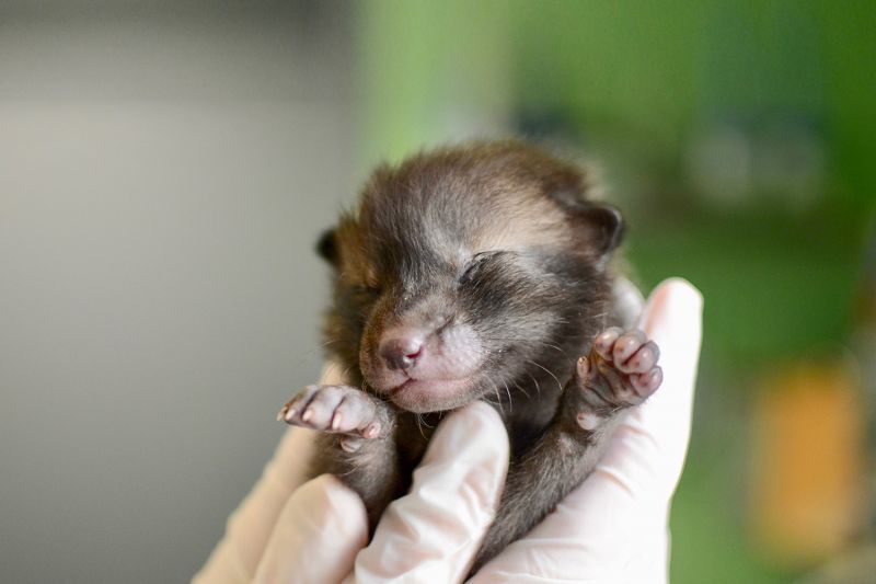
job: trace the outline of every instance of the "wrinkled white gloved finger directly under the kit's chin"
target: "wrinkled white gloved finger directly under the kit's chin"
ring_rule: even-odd
[[[452,413],[430,440],[411,492],[383,514],[347,582],[460,582],[495,516],[508,448],[489,405]]]

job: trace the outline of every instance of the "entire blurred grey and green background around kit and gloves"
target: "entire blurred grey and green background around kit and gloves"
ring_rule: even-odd
[[[181,582],[318,375],[368,169],[527,136],[705,296],[671,576],[876,573],[873,2],[0,3],[0,577]],[[857,580],[855,580],[857,579]]]

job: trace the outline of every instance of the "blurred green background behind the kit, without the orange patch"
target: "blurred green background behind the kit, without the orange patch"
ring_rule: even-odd
[[[672,581],[787,582],[866,539],[868,507],[855,503],[860,520],[841,545],[776,552],[782,543],[759,536],[752,518],[751,493],[764,479],[751,459],[761,447],[752,420],[764,406],[756,396],[780,391],[768,376],[797,363],[830,368],[850,354],[864,366],[876,359],[874,345],[853,341],[873,327],[873,2],[357,9],[362,171],[379,157],[506,131],[583,153],[629,219],[626,249],[643,288],[680,275],[703,291]],[[860,373],[861,363],[843,363]],[[864,412],[873,381],[852,378],[872,424]],[[819,463],[812,473],[831,472]],[[854,473],[864,492],[869,469]]]

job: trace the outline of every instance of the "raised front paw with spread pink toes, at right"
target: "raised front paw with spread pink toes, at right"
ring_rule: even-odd
[[[578,424],[592,430],[607,415],[650,397],[664,378],[659,357],[659,348],[642,331],[614,327],[597,335],[590,354],[578,359],[572,381]]]

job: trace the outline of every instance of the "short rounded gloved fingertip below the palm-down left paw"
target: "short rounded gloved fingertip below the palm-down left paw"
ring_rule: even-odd
[[[323,474],[289,497],[255,582],[341,582],[367,542],[368,516],[361,500],[337,478]]]

